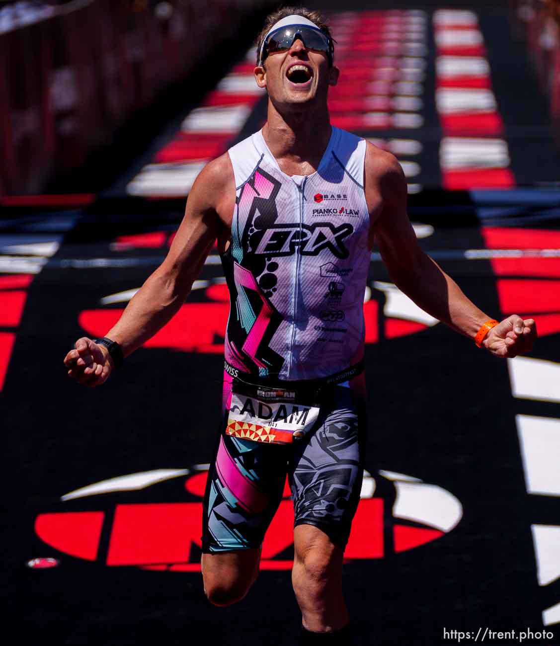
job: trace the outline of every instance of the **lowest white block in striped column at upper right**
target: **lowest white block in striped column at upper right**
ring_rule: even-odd
[[[444,137],[439,146],[444,170],[506,168],[510,165],[508,144],[503,139]]]

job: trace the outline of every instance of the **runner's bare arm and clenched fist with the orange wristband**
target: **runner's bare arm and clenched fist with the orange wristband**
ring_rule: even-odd
[[[457,283],[420,249],[406,214],[406,180],[397,160],[392,155],[368,150],[366,198],[368,191],[376,188],[382,206],[372,227],[391,280],[431,316],[474,339],[482,324],[492,317],[475,306]],[[496,355],[514,357],[530,349],[535,335],[534,321],[523,322],[513,316],[488,333],[484,346]]]

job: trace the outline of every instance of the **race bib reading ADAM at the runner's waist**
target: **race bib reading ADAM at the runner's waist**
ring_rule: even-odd
[[[233,382],[225,432],[233,437],[287,444],[305,437],[317,421],[320,406],[296,391]]]

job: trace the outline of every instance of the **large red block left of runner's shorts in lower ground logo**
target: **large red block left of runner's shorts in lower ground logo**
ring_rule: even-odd
[[[107,565],[188,562],[201,526],[200,503],[117,505]]]

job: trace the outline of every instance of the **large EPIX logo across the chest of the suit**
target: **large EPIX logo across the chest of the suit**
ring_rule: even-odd
[[[347,258],[348,250],[342,244],[353,233],[351,224],[335,226],[330,222],[316,224],[277,224],[265,229],[254,253],[267,256],[291,256],[299,247],[303,256],[316,256],[329,249],[337,258]]]

